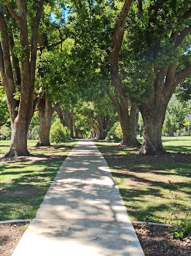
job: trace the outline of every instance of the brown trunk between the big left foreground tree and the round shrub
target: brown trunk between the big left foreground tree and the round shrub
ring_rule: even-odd
[[[39,139],[36,146],[50,146],[50,128],[51,119],[55,109],[52,107],[52,102],[47,100],[45,94],[38,103],[38,112],[40,119]]]

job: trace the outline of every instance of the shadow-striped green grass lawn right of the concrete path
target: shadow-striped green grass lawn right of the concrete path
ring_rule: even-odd
[[[137,149],[96,141],[118,183],[131,221],[191,221],[191,153],[186,153],[191,152],[191,137],[163,140],[171,153],[160,156],[141,156]]]

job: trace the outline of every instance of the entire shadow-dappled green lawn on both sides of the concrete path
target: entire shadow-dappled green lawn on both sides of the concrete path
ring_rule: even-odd
[[[141,140],[141,138],[139,138]],[[131,220],[177,224],[191,219],[191,137],[162,137],[162,156],[140,156],[138,149],[96,141],[106,158]],[[51,180],[77,141],[47,149],[28,141],[35,158],[0,163],[0,220],[33,218]],[[0,152],[10,141],[0,141]]]

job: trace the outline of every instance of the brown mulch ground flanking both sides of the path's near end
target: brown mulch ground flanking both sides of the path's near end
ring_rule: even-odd
[[[27,223],[0,224],[0,255],[11,256]],[[133,224],[146,256],[190,256],[190,239],[172,239],[168,227]]]

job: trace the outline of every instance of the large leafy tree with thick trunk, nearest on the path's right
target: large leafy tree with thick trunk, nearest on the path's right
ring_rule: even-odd
[[[133,5],[129,13],[122,52],[130,93],[143,116],[141,154],[165,153],[161,132],[168,102],[191,74],[190,10],[185,0],[143,1],[141,12]]]

